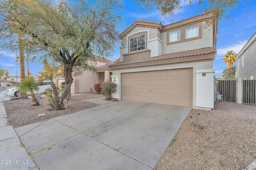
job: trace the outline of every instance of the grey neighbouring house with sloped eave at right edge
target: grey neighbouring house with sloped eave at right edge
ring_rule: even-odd
[[[256,32],[236,55],[237,68],[236,78],[256,78]]]

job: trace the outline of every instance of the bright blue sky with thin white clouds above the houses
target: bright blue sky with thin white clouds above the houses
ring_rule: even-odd
[[[124,12],[123,19],[124,25],[120,25],[120,31],[126,29],[135,20],[152,20],[161,21],[163,25],[184,20],[186,18],[196,16],[201,14],[202,10],[196,10],[198,4],[194,2],[192,6],[186,5],[180,12],[177,12],[174,18],[160,18],[158,12],[147,12],[141,10],[140,6],[136,6],[132,0],[124,1]],[[236,54],[242,49],[245,43],[250,39],[250,37],[256,32],[256,1],[248,2],[247,6],[249,9],[244,10],[245,6],[242,4],[238,6],[236,10],[230,13],[230,20],[221,20],[218,28],[217,37],[217,55],[213,62],[213,67],[215,69],[216,77],[221,77],[221,72],[223,69],[228,68],[223,62],[223,56],[226,51],[233,50]],[[120,45],[119,45],[120,46]],[[1,55],[2,54],[2,55]],[[0,51],[0,67],[8,69],[10,75],[16,75],[16,62],[15,56],[18,53],[10,53],[8,51]],[[115,61],[119,58],[119,47],[113,52],[113,58],[110,59]],[[26,64],[26,63],[25,63]],[[42,64],[30,63],[30,72],[33,75],[40,71],[43,71]],[[26,68],[27,69],[27,68]],[[20,74],[18,65],[18,74]]]

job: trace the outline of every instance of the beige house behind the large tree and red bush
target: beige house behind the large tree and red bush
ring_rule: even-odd
[[[79,71],[72,73],[72,77],[74,79],[71,85],[72,94],[94,92],[94,84],[98,82],[102,83],[111,81],[112,70],[109,66],[113,64],[113,62],[108,59],[104,59],[103,57],[95,57],[95,61],[95,72]],[[63,76],[56,77],[56,86],[60,86],[62,82],[65,82]]]

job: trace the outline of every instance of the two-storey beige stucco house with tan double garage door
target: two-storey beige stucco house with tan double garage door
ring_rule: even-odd
[[[217,25],[212,12],[162,25],[136,20],[120,35],[120,62],[110,65],[119,100],[211,109]]]

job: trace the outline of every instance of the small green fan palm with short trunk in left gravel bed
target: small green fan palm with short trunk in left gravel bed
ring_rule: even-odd
[[[30,93],[32,96],[32,106],[39,106],[39,101],[35,98],[35,92],[40,90],[42,80],[35,81],[33,77],[26,77],[20,84],[15,84],[20,88],[20,94]]]

